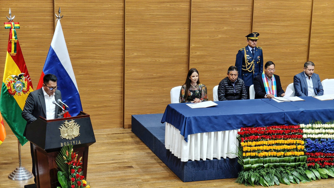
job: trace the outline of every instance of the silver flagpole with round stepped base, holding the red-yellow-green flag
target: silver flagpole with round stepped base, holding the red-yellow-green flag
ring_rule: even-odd
[[[9,20],[9,22],[12,22],[13,19],[15,18],[15,16],[12,17],[12,12],[10,11],[10,8],[9,8],[9,18],[8,16],[6,17]],[[19,153],[19,167],[16,167],[16,169],[8,175],[8,178],[15,181],[31,179],[33,177],[32,173],[29,172],[27,169],[25,169],[25,167],[21,166],[21,143],[18,139],[17,139],[17,145]]]

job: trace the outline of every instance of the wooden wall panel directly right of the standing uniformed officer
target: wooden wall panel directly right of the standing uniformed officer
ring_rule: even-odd
[[[259,32],[264,64],[273,61],[285,90],[307,60],[312,0],[254,0],[253,32]]]

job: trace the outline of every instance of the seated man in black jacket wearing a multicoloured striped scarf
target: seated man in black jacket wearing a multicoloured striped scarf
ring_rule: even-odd
[[[274,72],[275,64],[273,61],[268,61],[265,64],[265,71],[254,78],[255,99],[285,96],[280,76],[274,74]]]

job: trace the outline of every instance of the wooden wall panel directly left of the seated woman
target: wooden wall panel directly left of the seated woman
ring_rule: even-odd
[[[189,0],[125,1],[124,128],[163,113],[187,74]]]

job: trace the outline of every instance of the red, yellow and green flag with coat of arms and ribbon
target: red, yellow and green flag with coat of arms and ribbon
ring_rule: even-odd
[[[33,88],[16,35],[15,29],[20,28],[20,25],[13,21],[4,24],[10,31],[2,79],[0,111],[3,119],[23,146],[27,142],[23,136],[27,122],[22,118],[21,113],[25,100]]]

